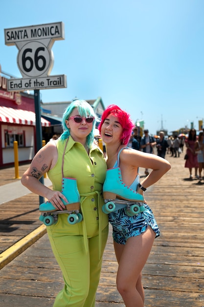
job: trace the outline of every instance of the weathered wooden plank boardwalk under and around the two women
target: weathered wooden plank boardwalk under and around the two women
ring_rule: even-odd
[[[143,269],[145,307],[204,307],[204,181],[188,179],[183,156],[166,155],[172,169],[145,192],[161,231]],[[20,176],[24,169],[20,167]],[[0,170],[0,185],[17,180],[13,177],[13,168]],[[30,193],[0,205],[0,259],[32,231],[43,231],[38,204],[38,196]],[[20,249],[16,255],[21,254],[0,271],[2,307],[51,307],[63,286],[47,234],[29,241],[30,247],[23,253]],[[124,307],[115,286],[116,272],[110,227],[96,307]]]

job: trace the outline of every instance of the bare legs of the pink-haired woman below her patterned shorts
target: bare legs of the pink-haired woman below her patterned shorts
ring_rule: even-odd
[[[142,234],[129,238],[125,245],[114,242],[118,261],[117,289],[126,307],[144,307],[144,290],[141,271],[155,239],[155,232],[148,227]]]

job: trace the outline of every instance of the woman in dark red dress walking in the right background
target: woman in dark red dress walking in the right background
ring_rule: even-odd
[[[195,169],[195,178],[198,179],[198,158],[197,153],[195,152],[195,143],[196,143],[196,130],[190,129],[187,139],[185,140],[185,146],[187,148],[187,160],[185,160],[184,167],[189,169],[190,179],[193,179],[192,169]]]

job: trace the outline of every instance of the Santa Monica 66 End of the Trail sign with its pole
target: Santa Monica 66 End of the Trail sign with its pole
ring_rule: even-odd
[[[23,78],[7,80],[8,91],[34,90],[37,151],[42,147],[40,89],[65,88],[65,75],[50,76],[54,63],[51,50],[55,40],[63,40],[62,22],[4,29],[5,45],[16,45],[19,52],[17,64]],[[44,183],[44,178],[40,179]],[[39,197],[40,204],[44,198]]]

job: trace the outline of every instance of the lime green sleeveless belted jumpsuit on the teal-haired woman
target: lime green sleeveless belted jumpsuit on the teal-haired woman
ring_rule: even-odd
[[[93,145],[88,155],[84,146],[71,136],[67,146],[66,143],[67,140],[56,142],[58,160],[47,174],[53,190],[58,191],[62,191],[62,165],[65,178],[77,179],[83,221],[70,225],[65,213],[58,215],[56,224],[47,226],[52,251],[65,281],[53,307],[94,307],[108,237],[108,214],[102,212],[107,166],[97,146]]]

